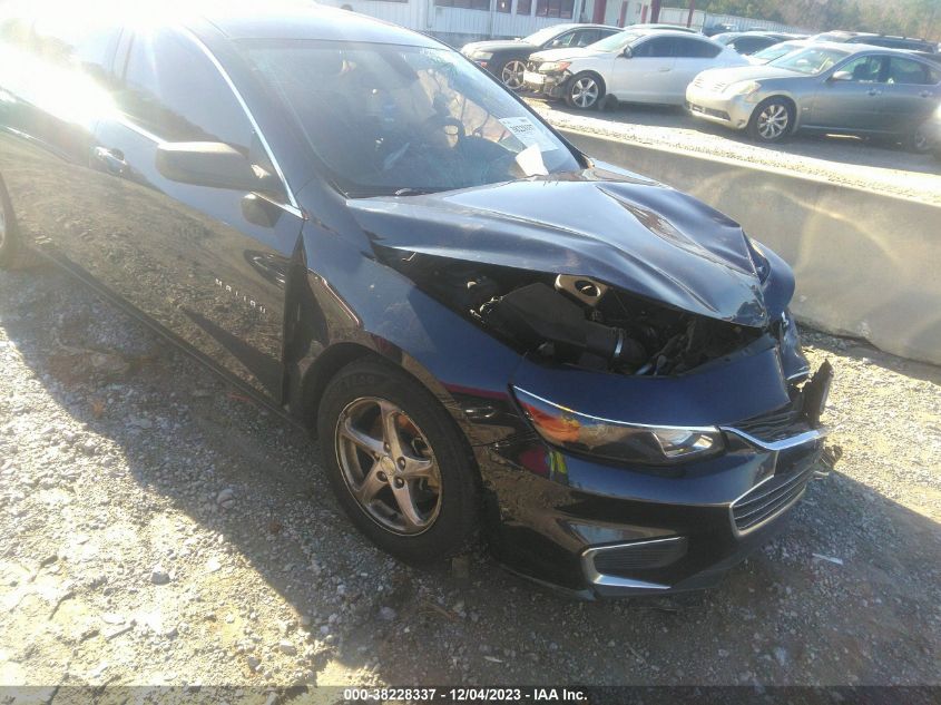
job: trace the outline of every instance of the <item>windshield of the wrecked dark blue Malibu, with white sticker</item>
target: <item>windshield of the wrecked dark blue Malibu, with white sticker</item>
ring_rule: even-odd
[[[450,49],[241,43],[347,196],[405,196],[580,168],[532,112]]]

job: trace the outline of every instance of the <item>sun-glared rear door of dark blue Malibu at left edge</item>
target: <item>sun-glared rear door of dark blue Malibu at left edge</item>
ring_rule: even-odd
[[[120,30],[55,8],[0,32],[0,175],[22,236],[68,265],[97,224],[89,197],[105,179],[89,157]]]

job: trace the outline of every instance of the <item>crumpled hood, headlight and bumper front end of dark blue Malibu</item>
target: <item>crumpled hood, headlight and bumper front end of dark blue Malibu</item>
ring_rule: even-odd
[[[508,429],[470,431],[506,564],[586,595],[704,587],[800,499],[831,371],[737,224],[599,169],[351,207],[381,262],[520,354],[503,411],[459,402]]]

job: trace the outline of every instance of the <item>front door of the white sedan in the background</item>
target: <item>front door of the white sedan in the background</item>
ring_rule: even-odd
[[[630,58],[617,57],[611,92],[628,102],[663,102],[676,63],[675,42],[673,37],[653,36],[635,43]]]

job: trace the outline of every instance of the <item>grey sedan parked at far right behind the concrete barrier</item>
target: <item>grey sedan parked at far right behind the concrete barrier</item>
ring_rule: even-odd
[[[941,101],[941,66],[910,52],[820,43],[765,66],[705,71],[686,91],[692,114],[758,141],[794,131],[892,137],[918,147]]]

